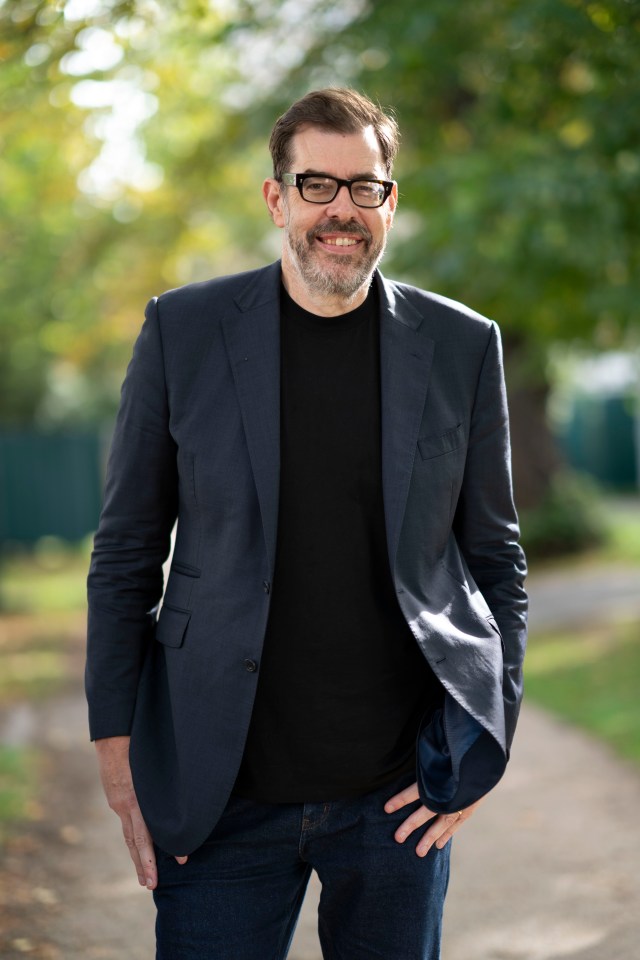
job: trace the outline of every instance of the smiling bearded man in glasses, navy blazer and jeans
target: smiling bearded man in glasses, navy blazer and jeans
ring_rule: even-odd
[[[312,868],[325,958],[435,960],[449,840],[504,771],[526,597],[499,337],[378,272],[397,143],[354,91],[293,104],[281,262],[154,299],[127,373],[87,691],[160,960],[286,957]]]

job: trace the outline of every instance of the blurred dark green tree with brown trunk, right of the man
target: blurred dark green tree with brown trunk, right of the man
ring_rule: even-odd
[[[558,462],[550,343],[637,343],[639,40],[628,0],[377,0],[291,78],[301,92],[329,74],[395,105],[389,269],[499,320],[525,507]]]

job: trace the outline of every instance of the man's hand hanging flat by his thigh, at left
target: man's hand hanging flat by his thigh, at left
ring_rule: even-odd
[[[96,740],[100,779],[109,803],[122,821],[122,832],[138,874],[138,883],[155,890],[158,871],[153,841],[142,819],[129,766],[129,737],[108,737]],[[186,857],[176,857],[186,863]]]

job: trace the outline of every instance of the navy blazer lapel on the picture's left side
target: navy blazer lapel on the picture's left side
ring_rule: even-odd
[[[252,278],[222,321],[273,576],[280,481],[280,264]]]

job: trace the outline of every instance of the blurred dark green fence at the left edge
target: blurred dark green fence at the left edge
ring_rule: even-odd
[[[95,530],[102,496],[99,432],[0,431],[0,543]]]

